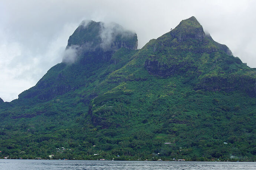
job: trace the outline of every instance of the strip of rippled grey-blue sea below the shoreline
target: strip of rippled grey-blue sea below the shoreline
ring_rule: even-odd
[[[145,162],[145,161],[88,161],[88,160],[15,160],[0,159],[0,169],[4,170],[256,170],[255,162]]]

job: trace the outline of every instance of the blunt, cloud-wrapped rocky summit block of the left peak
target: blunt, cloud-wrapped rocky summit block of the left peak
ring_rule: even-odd
[[[137,50],[137,34],[116,23],[82,21],[69,37],[66,49],[75,48],[82,62],[98,62],[109,61],[111,55],[122,47]]]

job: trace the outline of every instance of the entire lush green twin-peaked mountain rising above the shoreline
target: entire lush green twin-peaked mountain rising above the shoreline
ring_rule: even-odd
[[[195,17],[137,50],[118,24],[83,21],[60,64],[0,104],[11,158],[255,161],[256,70]]]

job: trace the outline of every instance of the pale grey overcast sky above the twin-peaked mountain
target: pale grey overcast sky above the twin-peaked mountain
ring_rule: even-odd
[[[0,97],[12,101],[62,61],[82,20],[121,24],[138,47],[195,16],[213,39],[256,67],[256,1],[0,0]]]

